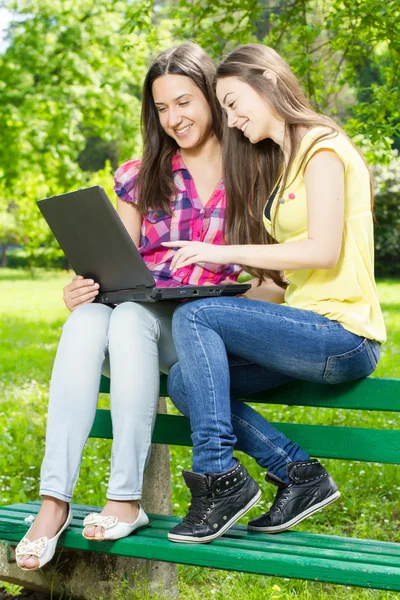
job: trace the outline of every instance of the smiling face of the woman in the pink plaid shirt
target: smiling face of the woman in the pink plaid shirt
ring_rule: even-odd
[[[181,148],[195,148],[212,134],[210,106],[200,88],[184,75],[163,75],[152,85],[160,125]]]

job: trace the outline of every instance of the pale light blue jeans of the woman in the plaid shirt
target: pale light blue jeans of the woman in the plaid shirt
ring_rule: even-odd
[[[50,384],[40,493],[71,501],[96,414],[99,382],[111,373],[113,444],[107,498],[137,500],[151,449],[160,369],[176,362],[175,302],[86,304],[71,313]]]

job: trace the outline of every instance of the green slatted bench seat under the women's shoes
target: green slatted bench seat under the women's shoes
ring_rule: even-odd
[[[36,513],[38,507],[34,503],[1,508],[0,539],[18,542],[28,528],[23,518]],[[174,544],[168,541],[167,531],[179,519],[154,515],[150,527],[136,535],[99,544],[85,540],[81,534],[82,519],[92,507],[75,510],[73,506],[73,510],[73,524],[61,538],[60,546],[64,548],[151,560],[168,558],[168,562],[400,591],[400,556],[393,552],[398,545],[392,543],[375,542],[376,552],[372,553],[368,540],[354,540],[353,550],[331,549],[323,543],[324,538],[331,540],[331,536],[306,534],[306,544],[302,545],[293,544],[294,539],[299,542],[304,535],[300,532],[268,536],[234,526],[212,544]],[[346,541],[351,547],[351,538]]]

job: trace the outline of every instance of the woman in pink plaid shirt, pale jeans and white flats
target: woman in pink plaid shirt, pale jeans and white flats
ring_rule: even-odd
[[[167,240],[224,243],[222,112],[215,67],[195,44],[163,52],[143,88],[143,159],[115,175],[117,209],[158,286],[236,282],[240,267],[204,263],[172,273]],[[117,266],[116,266],[117,268]],[[159,370],[176,361],[171,322],[176,304],[93,304],[98,285],[75,277],[64,289],[72,312],[64,325],[50,386],[41,510],[17,546],[18,565],[37,569],[54,555],[71,521],[70,502],[95,416],[101,371],[111,372],[114,440],[108,502],[85,519],[89,540],[118,539],[148,519],[139,500],[159,395]]]

